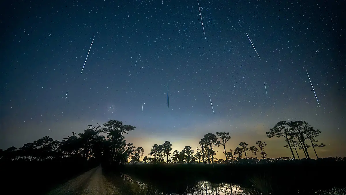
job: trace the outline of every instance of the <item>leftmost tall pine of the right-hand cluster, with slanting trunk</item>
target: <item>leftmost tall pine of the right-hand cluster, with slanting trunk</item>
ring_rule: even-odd
[[[293,159],[295,160],[295,156],[293,154],[293,150],[291,147],[291,144],[289,143],[289,139],[293,136],[293,129],[290,127],[290,123],[286,123],[286,121],[282,120],[278,122],[273,128],[269,130],[269,132],[266,132],[267,137],[272,138],[274,136],[276,137],[284,137],[285,141],[288,143],[288,146],[290,147]]]

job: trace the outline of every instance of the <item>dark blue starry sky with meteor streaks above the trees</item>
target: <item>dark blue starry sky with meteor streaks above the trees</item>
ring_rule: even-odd
[[[303,120],[322,130],[321,157],[346,155],[344,1],[0,4],[2,149],[115,119],[145,154],[226,131],[227,150],[262,140],[275,158],[289,149],[265,132]]]

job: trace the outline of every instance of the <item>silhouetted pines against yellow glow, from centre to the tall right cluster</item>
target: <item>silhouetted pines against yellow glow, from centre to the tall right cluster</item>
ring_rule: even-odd
[[[293,160],[295,155],[293,150],[300,159],[297,150],[302,150],[306,159],[310,159],[308,152],[309,148],[312,148],[318,158],[316,147],[325,147],[325,144],[317,144],[316,137],[319,136],[321,131],[313,128],[307,122],[303,121],[280,121],[268,132],[266,132],[269,138],[271,137],[284,137],[285,142],[288,145],[284,147],[289,148],[292,152]],[[265,142],[257,141],[255,146],[248,147],[249,144],[240,142],[236,149],[226,150],[226,143],[230,141],[231,137],[229,132],[216,132],[216,134],[208,133],[199,141],[199,147],[195,149],[197,152],[194,154],[192,147],[185,146],[182,151],[172,151],[172,144],[169,141],[164,142],[162,145],[154,144],[149,157],[145,156],[143,163],[266,163],[276,162],[282,160],[291,160],[291,157],[280,157],[276,159],[268,159],[267,153],[264,147],[267,145]],[[311,143],[311,144],[308,144]],[[225,155],[224,159],[217,159],[215,157],[215,147],[222,147],[222,153]],[[252,155],[252,156],[250,156]],[[169,156],[172,156],[169,158]],[[244,158],[243,158],[244,157]],[[166,161],[165,161],[166,159]]]

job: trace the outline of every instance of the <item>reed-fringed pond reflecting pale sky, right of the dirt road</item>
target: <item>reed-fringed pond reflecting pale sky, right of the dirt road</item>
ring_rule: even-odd
[[[164,181],[168,182],[164,182]],[[180,181],[172,183],[169,179],[162,178],[161,183],[157,181],[139,180],[129,175],[121,174],[117,179],[113,178],[113,181],[119,185],[119,181],[122,183],[123,194],[128,195],[267,195],[267,194],[321,194],[321,195],[341,195],[346,194],[346,188],[332,187],[329,189],[309,189],[299,192],[299,190],[282,190],[281,192],[273,192],[270,184],[257,185],[253,184],[231,184],[231,183],[212,183],[210,181]],[[255,181],[254,181],[255,182]],[[257,187],[255,187],[257,186]]]

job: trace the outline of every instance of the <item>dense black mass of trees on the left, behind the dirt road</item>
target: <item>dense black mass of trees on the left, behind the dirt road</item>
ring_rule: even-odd
[[[137,162],[144,153],[143,148],[134,149],[135,146],[126,143],[123,136],[134,129],[135,127],[124,125],[121,121],[109,120],[103,125],[88,125],[88,129],[78,135],[72,132],[71,136],[62,141],[45,136],[32,143],[26,143],[19,149],[14,146],[4,151],[0,149],[0,159],[4,162],[82,158],[85,161],[124,164],[128,161],[129,156],[134,156]],[[100,133],[105,133],[106,137]]]

